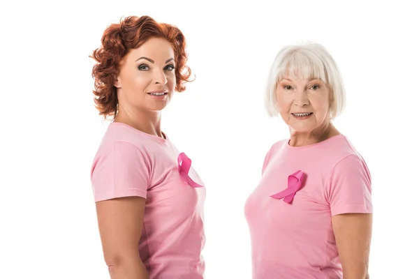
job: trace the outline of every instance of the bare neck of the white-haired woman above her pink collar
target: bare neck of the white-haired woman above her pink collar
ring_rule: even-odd
[[[292,130],[291,127],[290,131],[291,139],[289,144],[291,146],[306,146],[310,144],[316,144],[340,134],[335,126],[333,126],[329,121],[323,123],[321,126],[312,130],[311,132],[299,133],[295,130]]]

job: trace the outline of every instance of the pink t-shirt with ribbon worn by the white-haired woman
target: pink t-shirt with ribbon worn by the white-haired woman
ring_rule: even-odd
[[[300,147],[283,140],[267,153],[262,174],[244,209],[253,279],[342,278],[331,218],[372,213],[360,154],[344,135]]]

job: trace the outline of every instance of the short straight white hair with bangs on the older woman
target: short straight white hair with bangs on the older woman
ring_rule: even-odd
[[[303,80],[317,78],[330,88],[330,119],[334,119],[345,105],[344,84],[335,59],[318,43],[300,43],[282,48],[270,68],[265,88],[265,108],[270,116],[279,114],[277,85],[286,76]]]

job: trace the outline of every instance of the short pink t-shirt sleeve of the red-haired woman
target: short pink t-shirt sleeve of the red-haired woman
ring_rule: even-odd
[[[117,197],[147,197],[149,164],[137,146],[113,142],[100,149],[91,168],[94,200]]]

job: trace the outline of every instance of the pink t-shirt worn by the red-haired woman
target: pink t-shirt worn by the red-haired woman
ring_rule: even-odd
[[[179,151],[168,140],[110,123],[91,168],[95,202],[145,197],[138,246],[150,279],[202,279],[205,187],[191,167],[181,175]]]

